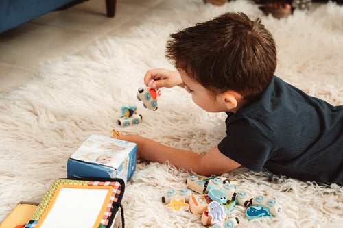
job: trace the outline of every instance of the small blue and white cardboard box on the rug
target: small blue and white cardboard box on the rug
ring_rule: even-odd
[[[136,168],[137,144],[91,135],[71,155],[67,177],[120,178],[125,183]]]

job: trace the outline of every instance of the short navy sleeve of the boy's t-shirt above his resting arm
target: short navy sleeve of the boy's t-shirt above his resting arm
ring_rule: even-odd
[[[218,144],[219,151],[241,166],[260,172],[277,149],[269,127],[255,119],[240,118],[226,128],[226,137]]]

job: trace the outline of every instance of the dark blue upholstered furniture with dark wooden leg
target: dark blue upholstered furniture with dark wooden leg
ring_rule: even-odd
[[[0,0],[0,34],[48,12],[88,0]],[[115,0],[106,0],[107,16],[115,16]]]

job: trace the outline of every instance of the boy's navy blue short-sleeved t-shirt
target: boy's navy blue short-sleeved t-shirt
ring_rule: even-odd
[[[230,159],[255,172],[343,183],[343,106],[274,76],[263,93],[227,114],[218,149]]]

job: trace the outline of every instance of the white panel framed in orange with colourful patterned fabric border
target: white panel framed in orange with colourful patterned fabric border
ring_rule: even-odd
[[[124,188],[122,179],[58,179],[25,228],[119,227]]]

